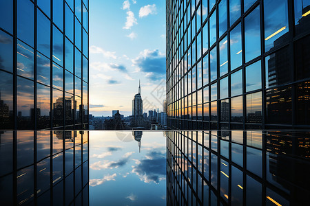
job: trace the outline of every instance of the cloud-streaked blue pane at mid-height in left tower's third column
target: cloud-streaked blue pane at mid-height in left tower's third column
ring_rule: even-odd
[[[37,54],[37,82],[50,86],[50,60]]]

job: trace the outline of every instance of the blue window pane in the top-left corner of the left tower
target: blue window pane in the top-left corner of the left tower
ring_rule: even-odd
[[[0,19],[6,19],[6,21],[0,21],[0,27],[13,34],[13,1],[1,0],[0,1]]]

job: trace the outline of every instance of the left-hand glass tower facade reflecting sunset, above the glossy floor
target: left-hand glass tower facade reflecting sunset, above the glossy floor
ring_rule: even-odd
[[[88,0],[3,0],[0,17],[0,129],[88,128]]]

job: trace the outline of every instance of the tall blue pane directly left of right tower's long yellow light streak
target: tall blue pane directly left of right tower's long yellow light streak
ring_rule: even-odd
[[[245,17],[245,61],[260,55],[260,8]]]

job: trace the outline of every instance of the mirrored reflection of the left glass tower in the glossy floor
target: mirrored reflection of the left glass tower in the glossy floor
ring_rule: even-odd
[[[0,132],[0,205],[89,205],[88,131]]]

